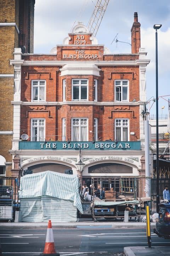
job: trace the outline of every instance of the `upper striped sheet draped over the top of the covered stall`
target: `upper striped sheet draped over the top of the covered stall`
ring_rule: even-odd
[[[19,196],[21,199],[49,196],[63,199],[64,203],[69,200],[83,213],[79,194],[79,178],[75,175],[53,171],[27,174],[21,177]]]

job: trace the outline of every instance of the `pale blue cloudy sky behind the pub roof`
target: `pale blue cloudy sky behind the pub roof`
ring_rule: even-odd
[[[77,23],[87,26],[97,0],[35,0],[34,53],[50,53],[62,44]],[[150,60],[146,71],[147,105],[155,114],[155,30],[154,24],[162,24],[158,30],[158,114],[168,114],[170,99],[170,1],[169,0],[109,0],[96,38],[111,53],[131,53],[131,27],[134,12],[141,23],[141,47],[146,48]],[[117,37],[116,37],[117,36]],[[125,42],[115,42],[118,41]]]

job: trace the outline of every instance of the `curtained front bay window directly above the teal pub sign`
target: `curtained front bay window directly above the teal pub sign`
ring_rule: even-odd
[[[88,140],[88,118],[72,118],[72,140]]]

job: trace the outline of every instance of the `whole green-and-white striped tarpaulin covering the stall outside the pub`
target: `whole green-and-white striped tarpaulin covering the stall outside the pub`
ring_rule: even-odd
[[[74,222],[77,209],[83,213],[79,178],[45,171],[20,180],[20,211],[24,222]]]

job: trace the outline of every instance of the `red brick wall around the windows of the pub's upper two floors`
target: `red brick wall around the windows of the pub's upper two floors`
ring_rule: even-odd
[[[122,57],[122,56],[121,56]],[[40,58],[40,57],[39,57]],[[44,56],[41,57],[43,59]],[[98,139],[115,140],[115,118],[128,118],[130,140],[140,138],[139,134],[139,107],[130,105],[113,105],[114,81],[116,79],[129,80],[129,101],[139,95],[139,68],[136,66],[99,66],[100,77],[87,75],[60,76],[59,66],[23,66],[22,68],[22,101],[31,101],[31,80],[46,80],[46,101],[62,101],[62,81],[66,79],[66,101],[72,101],[72,79],[88,79],[89,101],[94,101],[94,79],[98,80],[98,102],[111,102],[111,106],[102,105],[57,105],[56,106],[22,106],[21,134],[27,133],[30,137],[30,119],[46,118],[46,140],[62,140],[62,118],[66,118],[66,139],[71,139],[71,119],[88,118],[89,140],[94,140],[94,118],[98,118]],[[50,117],[49,117],[50,113]],[[92,132],[90,132],[92,131]]]

